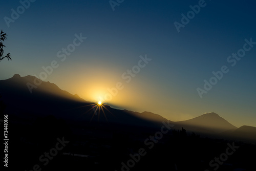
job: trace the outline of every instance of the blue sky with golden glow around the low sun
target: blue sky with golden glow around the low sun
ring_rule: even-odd
[[[215,112],[256,126],[255,5],[5,1],[0,29],[12,61],[1,61],[0,80],[33,75],[118,109],[172,121]]]

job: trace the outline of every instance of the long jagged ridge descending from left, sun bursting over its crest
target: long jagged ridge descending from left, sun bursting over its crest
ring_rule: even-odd
[[[153,113],[117,110],[109,105],[104,105],[103,110],[95,110],[93,102],[63,91],[54,83],[41,81],[30,75],[21,77],[15,74],[12,78],[0,80],[0,95],[7,105],[5,112],[15,114],[16,117],[54,115],[69,121],[110,122],[146,127],[159,126],[162,121],[167,121]]]

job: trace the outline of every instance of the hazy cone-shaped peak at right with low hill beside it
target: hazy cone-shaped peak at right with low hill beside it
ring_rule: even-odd
[[[244,125],[237,128],[213,112],[173,124],[174,129],[181,130],[183,127],[188,132],[207,137],[256,143],[256,127]]]

